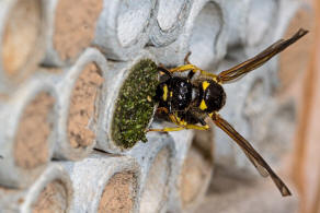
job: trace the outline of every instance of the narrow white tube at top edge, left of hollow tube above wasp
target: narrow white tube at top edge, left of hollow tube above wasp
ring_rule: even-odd
[[[158,0],[150,21],[150,43],[156,47],[173,43],[190,14],[191,0]]]

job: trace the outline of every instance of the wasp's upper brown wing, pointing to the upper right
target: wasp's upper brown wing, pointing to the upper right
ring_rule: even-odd
[[[247,74],[248,72],[255,70],[256,68],[261,67],[263,63],[268,61],[278,52],[286,49],[288,46],[297,42],[299,38],[305,36],[308,31],[300,28],[293,37],[288,39],[281,39],[265,50],[256,55],[255,57],[229,69],[220,72],[217,76],[217,81],[220,83],[230,83],[231,81],[239,80],[241,76]]]

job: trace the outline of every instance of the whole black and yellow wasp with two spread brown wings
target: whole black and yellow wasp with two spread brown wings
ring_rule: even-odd
[[[224,107],[227,98],[222,87],[224,84],[237,81],[261,67],[307,33],[308,31],[300,28],[290,38],[279,39],[253,58],[218,74],[209,73],[190,63],[188,56],[191,52],[185,57],[184,66],[172,69],[160,66],[159,71],[164,78],[159,82],[156,91],[157,110],[158,113],[164,113],[176,127],[149,129],[148,131],[208,130],[209,126],[205,118],[209,117],[218,128],[233,139],[263,177],[270,176],[272,178],[283,197],[290,196],[289,189],[263,157],[218,111]],[[185,73],[185,76],[174,74],[187,71],[188,73]],[[195,78],[196,73],[199,73],[197,78]]]

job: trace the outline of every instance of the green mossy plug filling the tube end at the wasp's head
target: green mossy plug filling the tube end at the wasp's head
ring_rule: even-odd
[[[129,71],[115,103],[112,138],[116,145],[127,149],[138,141],[147,142],[157,84],[157,64],[150,59],[141,59]]]

